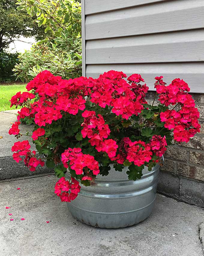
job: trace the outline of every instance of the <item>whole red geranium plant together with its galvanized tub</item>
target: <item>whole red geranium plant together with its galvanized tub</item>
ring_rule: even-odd
[[[188,142],[200,128],[183,80],[166,86],[155,77],[155,99],[148,104],[143,78],[126,77],[110,70],[97,79],[63,80],[45,70],[28,83],[29,92],[11,98],[11,106],[22,108],[9,134],[21,137],[19,120],[27,118],[36,145],[31,151],[28,140],[15,142],[13,159],[23,156],[31,171],[54,167],[60,178],[55,194],[92,226],[125,227],[148,217],[167,145]]]

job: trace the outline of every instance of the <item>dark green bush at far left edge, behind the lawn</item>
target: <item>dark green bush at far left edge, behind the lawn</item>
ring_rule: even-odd
[[[12,69],[18,62],[18,53],[0,52],[0,82],[15,80]]]

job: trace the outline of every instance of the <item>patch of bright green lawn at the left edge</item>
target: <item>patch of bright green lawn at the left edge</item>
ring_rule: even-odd
[[[16,85],[0,85],[0,111],[15,109],[10,108],[10,99],[17,92],[26,92],[26,84]]]

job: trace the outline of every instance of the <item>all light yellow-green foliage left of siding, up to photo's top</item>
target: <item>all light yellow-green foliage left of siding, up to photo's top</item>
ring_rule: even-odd
[[[19,10],[36,16],[38,26],[49,32],[44,40],[19,55],[13,71],[29,81],[43,70],[62,78],[81,75],[81,4],[78,1],[18,0]]]

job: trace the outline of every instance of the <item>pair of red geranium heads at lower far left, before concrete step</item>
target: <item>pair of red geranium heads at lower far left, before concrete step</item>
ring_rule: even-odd
[[[36,151],[31,152],[30,147],[31,145],[29,144],[28,140],[24,140],[22,142],[18,141],[14,143],[11,151],[14,152],[13,160],[19,163],[19,161],[22,161],[21,156],[25,156],[25,165],[29,167],[31,171],[35,171],[38,165],[44,166],[44,161],[42,161],[41,159],[37,159],[35,157]]]

